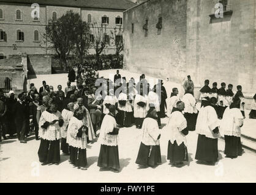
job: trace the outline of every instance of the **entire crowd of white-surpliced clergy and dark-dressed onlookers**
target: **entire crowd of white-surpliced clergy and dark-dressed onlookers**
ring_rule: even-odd
[[[96,84],[98,79],[99,85]],[[240,135],[245,115],[240,85],[234,94],[231,84],[228,90],[225,90],[225,83],[217,89],[214,82],[210,88],[209,80],[205,80],[200,90],[201,108],[197,110],[190,76],[183,85],[184,96],[179,97],[178,88],[173,88],[168,105],[163,84],[158,80],[151,86],[145,74],[141,74],[138,83],[134,78],[127,82],[119,71],[113,80],[99,78],[97,69],[77,64],[69,72],[64,91],[61,85],[54,91],[45,81],[39,91],[31,83],[29,93],[18,94],[18,99],[14,91],[9,92],[9,98],[1,91],[1,133],[4,139],[7,134],[12,138],[17,133],[20,143],[26,143],[29,131],[33,130],[36,140],[40,140],[38,155],[42,165],[58,165],[62,151],[70,155],[72,165],[83,170],[87,166],[87,144],[98,140],[101,147],[97,165],[118,172],[119,129],[134,124],[143,131],[136,160],[140,166],[161,163],[159,140],[163,130],[168,132],[167,159],[175,166],[188,161],[186,135],[190,131],[198,133],[195,159],[199,161],[217,161],[220,132],[225,135],[227,157],[242,154]],[[253,108],[250,118],[255,118],[255,102]],[[162,129],[165,110],[169,121]]]

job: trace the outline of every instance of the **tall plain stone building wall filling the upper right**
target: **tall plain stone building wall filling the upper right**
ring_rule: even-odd
[[[255,0],[141,2],[124,12],[124,66],[180,83],[190,74],[199,86],[205,79],[218,87],[239,84],[255,93],[255,5]]]

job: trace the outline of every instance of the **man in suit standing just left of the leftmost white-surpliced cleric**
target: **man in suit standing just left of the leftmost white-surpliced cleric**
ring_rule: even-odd
[[[39,140],[38,131],[39,125],[37,123],[37,107],[41,104],[39,102],[39,94],[35,94],[34,101],[29,103],[29,121],[32,120],[33,125],[35,127],[36,140]]]

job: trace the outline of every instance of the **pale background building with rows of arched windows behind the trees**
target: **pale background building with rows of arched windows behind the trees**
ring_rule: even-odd
[[[51,54],[53,51],[48,48],[47,43],[43,43],[45,26],[49,19],[57,19],[68,10],[79,13],[81,19],[88,21],[89,24],[97,23],[97,26],[104,27],[108,38],[111,30],[122,31],[122,12],[135,5],[129,0],[39,0],[36,4],[34,2],[0,2],[0,60],[8,55],[21,53]],[[115,53],[115,44],[110,38],[108,40],[105,54]],[[94,49],[90,49],[90,52],[93,53]]]

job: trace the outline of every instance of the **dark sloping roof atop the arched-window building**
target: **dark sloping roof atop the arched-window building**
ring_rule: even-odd
[[[12,2],[17,4],[56,5],[65,7],[97,8],[127,10],[136,5],[129,0],[0,0],[1,2]]]

